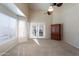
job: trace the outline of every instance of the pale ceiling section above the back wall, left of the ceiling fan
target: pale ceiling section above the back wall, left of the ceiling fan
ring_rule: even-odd
[[[31,11],[47,11],[49,6],[50,6],[49,3],[30,3],[29,10],[31,10]]]

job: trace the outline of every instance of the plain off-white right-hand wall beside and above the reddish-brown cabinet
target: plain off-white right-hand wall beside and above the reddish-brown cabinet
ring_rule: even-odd
[[[79,4],[66,3],[54,7],[53,24],[63,24],[63,40],[79,48]]]

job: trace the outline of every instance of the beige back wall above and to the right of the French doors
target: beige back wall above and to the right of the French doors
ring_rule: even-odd
[[[45,11],[30,12],[31,23],[45,23],[45,38],[50,39],[52,17],[44,13]]]

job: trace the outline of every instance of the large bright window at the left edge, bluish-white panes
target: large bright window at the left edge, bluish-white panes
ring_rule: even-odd
[[[17,20],[0,13],[0,42],[16,37]]]

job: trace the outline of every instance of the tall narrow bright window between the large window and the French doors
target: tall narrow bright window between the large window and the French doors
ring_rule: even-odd
[[[28,39],[28,21],[25,17],[18,17],[18,42],[26,42]]]

